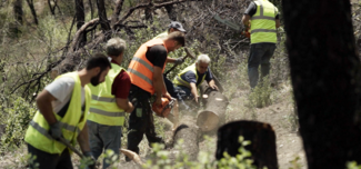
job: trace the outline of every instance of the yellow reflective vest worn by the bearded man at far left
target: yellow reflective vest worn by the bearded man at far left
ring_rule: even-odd
[[[57,120],[61,123],[61,131],[63,137],[72,145],[74,145],[78,135],[83,129],[87,122],[87,115],[88,115],[87,112],[90,106],[91,93],[90,93],[90,89],[86,86],[84,87],[86,107],[84,107],[84,111],[82,111],[81,101],[80,101],[81,82],[78,72],[69,72],[59,76],[58,78],[61,77],[71,77],[74,79],[76,83],[64,117],[61,118],[57,113],[54,115]],[[39,150],[49,153],[61,153],[67,148],[67,146],[52,139],[52,137],[49,135],[49,128],[50,127],[48,121],[44,119],[42,113],[38,111],[33,117],[33,119],[30,121],[29,128],[26,133],[26,141]]]

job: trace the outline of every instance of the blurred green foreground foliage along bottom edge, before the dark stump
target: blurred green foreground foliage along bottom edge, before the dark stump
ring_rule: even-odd
[[[210,138],[205,137],[205,140]],[[183,140],[179,140],[174,147],[177,151],[170,152],[163,150],[162,145],[153,145],[152,160],[148,160],[143,168],[151,169],[172,169],[172,168],[190,168],[190,169],[257,169],[250,160],[251,152],[245,150],[244,147],[250,145],[250,141],[245,141],[243,137],[239,139],[241,147],[239,148],[239,155],[237,157],[230,157],[224,153],[224,158],[219,161],[213,161],[213,155],[201,150],[198,155],[198,161],[189,159],[189,155],[182,151],[181,145]],[[174,160],[170,157],[174,157]]]

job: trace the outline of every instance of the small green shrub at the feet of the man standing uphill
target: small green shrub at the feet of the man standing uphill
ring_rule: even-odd
[[[272,88],[269,77],[264,77],[262,81],[249,95],[249,105],[257,108],[263,108],[272,103]]]

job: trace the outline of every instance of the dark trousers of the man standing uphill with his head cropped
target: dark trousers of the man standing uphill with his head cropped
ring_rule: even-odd
[[[251,44],[250,57],[248,58],[248,77],[251,88],[254,88],[259,81],[259,66],[261,66],[261,78],[270,73],[270,59],[274,50],[274,43]]]

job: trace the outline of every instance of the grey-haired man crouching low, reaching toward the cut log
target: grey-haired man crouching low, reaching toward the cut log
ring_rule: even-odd
[[[214,83],[213,76],[209,69],[211,59],[207,54],[200,54],[195,63],[183,69],[178,76],[174,77],[173,83],[176,90],[183,91],[187,97],[194,98],[198,103],[197,88],[207,80],[210,88],[218,90]]]

